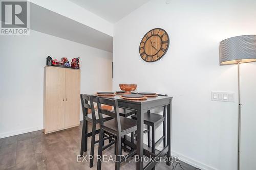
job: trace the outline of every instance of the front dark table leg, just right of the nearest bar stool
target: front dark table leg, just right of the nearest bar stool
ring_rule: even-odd
[[[143,127],[144,127],[144,114],[143,114],[143,108],[140,106],[140,108],[137,109],[137,163],[136,163],[136,169],[141,170],[143,169]]]

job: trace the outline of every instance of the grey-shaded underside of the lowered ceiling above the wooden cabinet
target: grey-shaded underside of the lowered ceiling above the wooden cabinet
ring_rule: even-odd
[[[112,36],[33,3],[30,3],[30,28],[112,52]]]

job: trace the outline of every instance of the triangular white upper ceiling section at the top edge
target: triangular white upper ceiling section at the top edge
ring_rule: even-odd
[[[150,0],[69,0],[76,5],[116,23],[124,16],[141,7]]]

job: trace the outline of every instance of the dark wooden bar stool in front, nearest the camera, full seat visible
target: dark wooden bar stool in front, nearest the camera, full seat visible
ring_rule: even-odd
[[[109,105],[114,107],[114,111],[102,109],[101,104]],[[97,105],[98,105],[98,114],[99,114],[99,150],[98,156],[102,158],[102,150],[103,148],[103,137],[104,131],[113,134],[116,137],[116,162],[115,169],[120,169],[120,163],[125,160],[125,158],[132,157],[136,154],[136,150],[130,152],[125,157],[121,158],[121,147],[122,147],[122,136],[125,136],[129,133],[135,132],[137,130],[136,120],[122,117],[118,112],[118,102],[117,99],[109,99],[109,98],[99,98],[97,97]],[[108,120],[104,122],[103,115],[114,115],[114,119]],[[97,170],[101,169],[101,159],[98,160]]]

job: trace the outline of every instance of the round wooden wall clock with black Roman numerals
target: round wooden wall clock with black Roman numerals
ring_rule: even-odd
[[[146,62],[161,59],[169,47],[169,36],[163,29],[156,28],[148,31],[140,42],[140,57]]]

